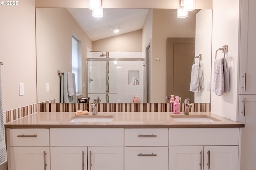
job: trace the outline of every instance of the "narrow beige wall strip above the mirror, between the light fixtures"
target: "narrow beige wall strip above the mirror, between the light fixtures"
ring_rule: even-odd
[[[89,0],[36,0],[36,7],[88,8]],[[180,8],[180,0],[102,0],[103,8]],[[212,0],[196,0],[196,9],[211,9]]]

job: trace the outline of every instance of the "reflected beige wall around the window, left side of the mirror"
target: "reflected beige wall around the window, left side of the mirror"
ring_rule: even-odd
[[[86,46],[92,41],[66,8],[36,8],[36,55],[38,103],[51,99],[60,102],[60,77],[57,70],[72,72],[72,35],[81,41],[82,63],[86,64]],[[85,69],[83,67],[83,69]],[[81,70],[82,82],[84,70]],[[46,92],[46,83],[50,92]],[[80,86],[82,83],[80,82]],[[82,91],[86,93],[86,88]]]

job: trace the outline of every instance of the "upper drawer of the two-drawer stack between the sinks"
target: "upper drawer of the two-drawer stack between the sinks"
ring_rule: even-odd
[[[125,129],[125,146],[168,146],[168,129]]]

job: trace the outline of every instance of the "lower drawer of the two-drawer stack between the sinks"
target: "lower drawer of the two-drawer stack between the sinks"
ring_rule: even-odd
[[[168,147],[125,147],[125,170],[168,170]]]

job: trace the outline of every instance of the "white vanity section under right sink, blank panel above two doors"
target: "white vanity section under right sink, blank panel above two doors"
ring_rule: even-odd
[[[169,130],[169,170],[238,170],[239,128]]]

